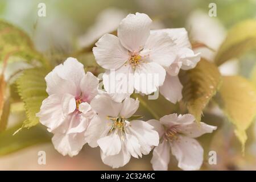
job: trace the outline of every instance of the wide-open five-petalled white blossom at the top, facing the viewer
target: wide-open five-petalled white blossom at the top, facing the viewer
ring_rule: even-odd
[[[174,39],[167,32],[151,32],[151,22],[146,14],[129,14],[119,24],[118,36],[105,34],[93,48],[97,63],[106,69],[104,88],[117,102],[134,89],[144,94],[155,92],[163,85],[164,68],[176,59]]]

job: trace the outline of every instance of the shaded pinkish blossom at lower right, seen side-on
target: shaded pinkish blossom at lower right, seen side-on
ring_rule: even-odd
[[[160,118],[160,121],[147,121],[158,131],[160,143],[154,148],[151,159],[154,170],[167,170],[170,152],[176,157],[178,167],[183,170],[200,169],[203,163],[204,150],[197,137],[205,133],[212,133],[216,126],[203,122],[196,123],[191,114],[170,114]]]

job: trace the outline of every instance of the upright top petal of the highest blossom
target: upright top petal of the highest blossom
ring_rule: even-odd
[[[123,47],[131,52],[138,52],[150,36],[152,20],[143,13],[129,14],[119,24],[117,34]]]

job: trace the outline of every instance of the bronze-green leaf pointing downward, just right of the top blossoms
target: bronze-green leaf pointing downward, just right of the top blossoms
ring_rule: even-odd
[[[220,72],[216,65],[203,59],[195,68],[181,72],[179,77],[183,85],[183,101],[189,113],[200,122],[203,109],[221,84]]]

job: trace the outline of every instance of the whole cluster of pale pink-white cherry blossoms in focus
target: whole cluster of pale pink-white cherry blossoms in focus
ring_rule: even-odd
[[[132,119],[139,108],[139,100],[130,98],[134,90],[151,94],[159,89],[176,103],[182,98],[180,69],[192,69],[200,60],[184,28],[150,30],[151,22],[146,14],[129,14],[119,24],[118,36],[105,34],[98,40],[93,53],[106,69],[105,90],[72,57],[48,73],[49,96],[37,116],[54,134],[52,143],[61,154],[77,155],[88,143],[100,147],[105,164],[118,168],[131,156],[139,158],[154,149],[155,170],[168,169],[170,151],[181,169],[201,167],[203,148],[193,138],[212,133],[215,126],[198,124],[191,114],[165,115],[160,121]]]

